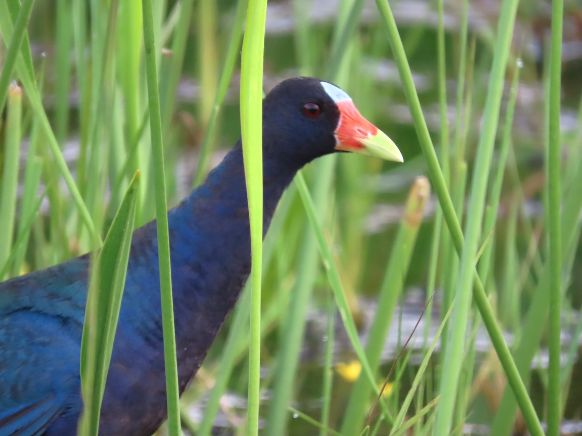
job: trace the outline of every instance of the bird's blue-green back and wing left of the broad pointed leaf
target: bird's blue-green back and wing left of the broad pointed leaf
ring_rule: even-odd
[[[82,256],[0,283],[0,435],[79,413],[87,266]]]

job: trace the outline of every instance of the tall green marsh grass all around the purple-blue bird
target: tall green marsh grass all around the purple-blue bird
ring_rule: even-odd
[[[579,298],[582,210],[576,188],[582,104],[576,128],[560,132],[560,112],[572,110],[568,98],[560,101],[562,2],[552,2],[545,94],[524,52],[528,41],[512,38],[516,20],[531,24],[516,12],[516,0],[504,0],[498,19],[485,27],[470,22],[474,2],[459,2],[458,22],[448,3],[434,2],[434,28],[395,20],[391,7],[414,7],[406,2],[377,0],[370,14],[365,2],[345,0],[333,19],[314,20],[316,5],[293,0],[282,3],[294,16],[282,34],[265,34],[265,24],[274,24],[265,22],[267,2],[91,0],[70,9],[65,3],[0,0],[6,47],[0,53],[0,108],[6,109],[0,119],[0,277],[100,247],[123,210],[128,228],[133,213],[135,226],[157,216],[168,376],[163,431],[179,434],[181,415],[201,435],[219,423],[235,434],[457,434],[477,419],[490,424],[491,434],[508,435],[519,408],[530,434],[543,433],[542,421],[558,434],[569,413],[567,392],[578,388],[572,374],[582,332],[580,321],[572,324],[573,342],[560,365],[560,328],[570,326]],[[456,26],[445,26],[447,20]],[[51,48],[47,57],[33,56],[36,44]],[[516,66],[522,52],[523,67]],[[399,77],[382,76],[392,61]],[[297,176],[263,242],[263,77],[270,84],[275,76],[299,73],[345,88],[363,115],[396,141],[406,163],[322,158]],[[203,88],[186,101],[191,80]],[[544,103],[524,105],[522,87]],[[434,114],[432,108],[438,108]],[[544,120],[547,128],[524,133],[523,122],[514,122],[524,116]],[[240,130],[252,278],[179,403],[165,210],[179,201],[182,187],[201,183]],[[547,183],[532,194],[531,180],[542,171],[527,162],[538,155]],[[132,181],[138,169],[139,184]],[[427,199],[428,187],[414,196],[418,174],[428,176],[437,200],[434,215],[424,220],[420,206],[414,219],[406,215],[413,198]],[[401,208],[411,186],[409,206]],[[538,197],[545,216],[527,215]],[[367,233],[368,220],[377,217],[372,211],[384,202],[402,220]],[[124,241],[128,236],[123,233]],[[107,238],[104,244],[107,253]],[[118,255],[123,265],[123,251]],[[109,271],[118,290],[122,272]],[[411,287],[426,291],[425,324],[393,364],[386,353],[398,353],[386,350],[386,337],[402,331],[398,344],[404,343],[410,315],[402,308],[410,307]],[[116,298],[107,309],[109,328],[93,343],[106,350]],[[93,300],[87,308],[102,309]],[[498,359],[487,383],[477,345],[483,334]],[[549,369],[532,369],[548,347]],[[93,434],[107,356],[93,349],[84,357],[96,365],[93,382],[84,380],[83,388],[92,399],[83,426]],[[534,376],[543,381],[541,390],[531,384]],[[491,410],[482,413],[492,379],[502,380],[505,390],[494,389]],[[246,406],[237,406],[239,398],[248,398]],[[547,408],[538,406],[544,402]]]

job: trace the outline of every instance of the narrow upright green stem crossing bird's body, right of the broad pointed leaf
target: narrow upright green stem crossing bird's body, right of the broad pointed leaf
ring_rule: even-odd
[[[178,362],[176,361],[176,333],[172,301],[172,271],[170,265],[170,238],[168,231],[168,202],[164,174],[164,145],[159,112],[157,48],[154,41],[154,13],[152,1],[144,0],[143,26],[145,67],[147,72],[150,132],[154,162],[155,216],[158,232],[159,287],[162,301],[162,329],[164,333],[164,363],[166,370],[166,395],[168,399],[168,426],[171,436],[179,436],[180,396],[178,387]]]

